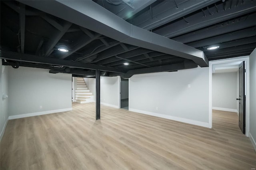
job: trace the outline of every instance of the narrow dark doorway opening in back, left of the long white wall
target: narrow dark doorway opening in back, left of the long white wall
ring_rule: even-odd
[[[121,109],[128,110],[129,106],[129,79],[121,79],[120,85],[120,103]]]

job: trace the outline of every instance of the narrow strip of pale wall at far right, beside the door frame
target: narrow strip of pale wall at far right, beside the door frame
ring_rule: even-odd
[[[256,150],[256,49],[250,54],[250,134]]]

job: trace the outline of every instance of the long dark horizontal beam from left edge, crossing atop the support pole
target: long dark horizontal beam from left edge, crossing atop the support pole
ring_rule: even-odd
[[[101,70],[101,71],[110,71],[116,73],[126,73],[127,70],[124,69],[116,69],[113,67],[106,67],[101,65],[94,65],[94,64],[87,64],[87,63],[80,63],[80,62],[72,62],[63,59],[56,59],[56,58],[46,58],[46,57],[38,57],[36,55],[29,55],[29,54],[22,54],[16,52],[0,52],[0,58],[2,59],[10,59],[14,61],[26,61],[26,62],[33,62],[33,63],[42,63],[48,65],[60,65],[66,67],[75,67],[80,69],[93,69],[93,70]]]

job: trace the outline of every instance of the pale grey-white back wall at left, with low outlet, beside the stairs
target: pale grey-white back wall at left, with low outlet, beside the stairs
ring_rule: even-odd
[[[54,113],[71,108],[71,74],[51,74],[48,69],[9,67],[10,117],[28,113]],[[12,118],[19,117],[22,116]]]

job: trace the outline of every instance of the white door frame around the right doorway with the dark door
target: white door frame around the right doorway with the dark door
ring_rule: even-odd
[[[236,61],[245,61],[245,79],[246,79],[246,111],[245,111],[245,135],[249,136],[250,132],[250,85],[249,85],[249,56],[242,56],[242,57],[235,57],[235,58],[228,58],[228,59],[219,59],[209,61],[209,128],[212,128],[212,65],[220,64],[220,63],[230,63]]]

